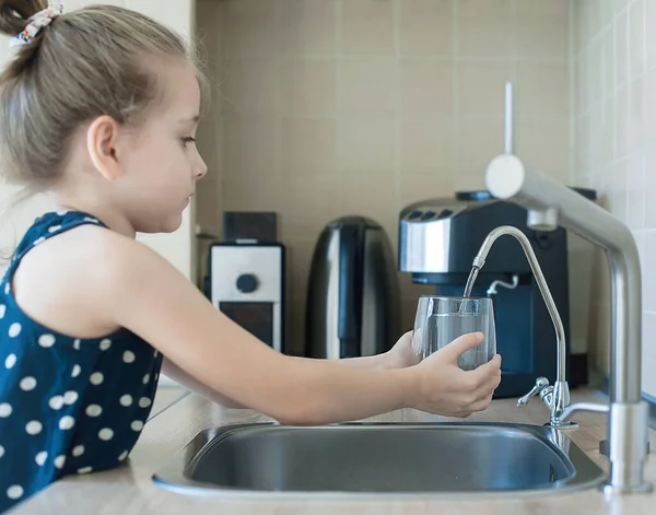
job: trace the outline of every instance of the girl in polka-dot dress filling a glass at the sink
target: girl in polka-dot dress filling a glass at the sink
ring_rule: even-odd
[[[410,333],[376,356],[285,356],[134,239],[175,231],[207,172],[195,147],[199,73],[178,36],[130,10],[63,14],[43,0],[0,1],[0,30],[16,47],[0,77],[2,173],[57,206],[0,283],[0,511],[124,461],[162,367],[216,402],[291,424],[488,407],[500,356],[457,366],[479,333],[421,363]]]

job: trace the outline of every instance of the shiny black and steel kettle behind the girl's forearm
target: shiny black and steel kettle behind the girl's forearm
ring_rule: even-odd
[[[320,233],[312,258],[305,354],[340,359],[389,350],[400,337],[400,293],[385,230],[343,216]]]

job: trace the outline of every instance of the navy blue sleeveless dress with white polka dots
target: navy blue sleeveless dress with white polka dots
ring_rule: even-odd
[[[23,256],[83,224],[108,230],[80,211],[37,218],[0,282],[0,513],[65,476],[120,465],[151,411],[162,354],[148,342],[126,329],[87,339],[56,332],[12,295]]]

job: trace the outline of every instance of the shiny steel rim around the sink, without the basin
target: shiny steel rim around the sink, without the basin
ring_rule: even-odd
[[[294,490],[251,490],[235,487],[219,487],[214,483],[202,482],[187,477],[187,470],[194,466],[208,450],[216,445],[221,440],[231,434],[244,430],[266,431],[268,429],[291,429],[291,430],[326,430],[341,428],[360,428],[362,430],[377,429],[436,429],[440,428],[489,428],[502,430],[518,430],[530,433],[532,436],[548,445],[552,450],[559,454],[566,461],[567,467],[573,468],[574,473],[571,478],[560,480],[551,487],[517,490],[497,490],[497,491],[294,491]],[[584,468],[585,473],[581,473]],[[343,422],[325,425],[286,425],[278,422],[251,422],[226,424],[222,426],[209,428],[202,430],[177,452],[166,464],[152,475],[152,481],[160,488],[185,495],[201,496],[230,496],[230,498],[271,498],[304,500],[308,498],[321,500],[364,500],[364,499],[485,499],[485,498],[509,498],[509,496],[536,496],[546,494],[563,494],[582,490],[589,490],[601,485],[606,480],[606,472],[595,464],[565,433],[565,431],[544,425],[508,423],[508,422]]]

